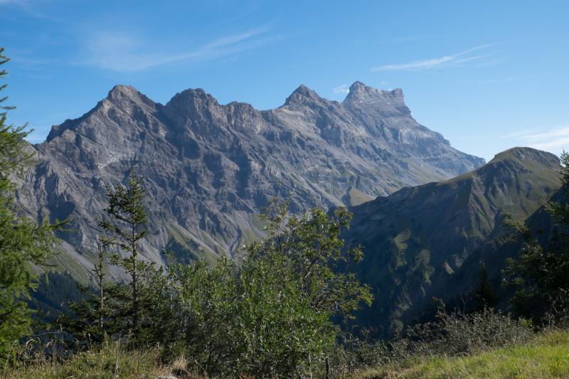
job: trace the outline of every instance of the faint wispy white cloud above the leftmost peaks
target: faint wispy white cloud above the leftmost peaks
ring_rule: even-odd
[[[267,28],[223,36],[193,50],[181,53],[158,51],[143,38],[129,33],[100,32],[90,36],[83,48],[83,58],[78,63],[121,72],[137,72],[175,63],[236,55],[245,50],[265,46],[272,38],[265,36]]]

